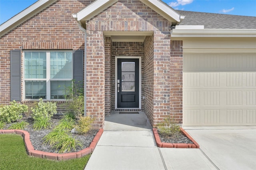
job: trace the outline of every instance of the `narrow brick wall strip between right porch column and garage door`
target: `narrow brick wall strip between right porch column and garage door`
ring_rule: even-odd
[[[170,44],[170,116],[182,123],[183,42],[171,41]]]

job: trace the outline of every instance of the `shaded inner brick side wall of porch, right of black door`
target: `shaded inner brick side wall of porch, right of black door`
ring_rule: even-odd
[[[144,41],[144,112],[151,125],[154,115],[154,36],[147,36]]]

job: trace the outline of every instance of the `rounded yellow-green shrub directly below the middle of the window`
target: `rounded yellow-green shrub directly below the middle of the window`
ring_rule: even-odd
[[[31,108],[31,117],[36,119],[46,118],[50,119],[53,114],[57,113],[57,106],[56,103],[52,102],[44,102],[42,98],[39,99],[37,105],[34,108]],[[41,119],[42,120],[42,119]]]

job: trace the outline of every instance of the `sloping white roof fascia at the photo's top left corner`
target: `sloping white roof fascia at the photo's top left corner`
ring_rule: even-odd
[[[50,6],[57,0],[38,0],[22,12],[18,13],[14,17],[12,17],[10,20],[4,22],[2,25],[0,25],[0,37],[2,37],[4,34],[15,28],[16,26],[22,24],[32,16],[36,15],[38,12],[42,11],[44,8]]]

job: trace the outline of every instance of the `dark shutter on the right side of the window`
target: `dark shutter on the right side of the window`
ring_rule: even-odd
[[[84,50],[73,52],[73,79],[77,87],[83,88],[84,83]]]

